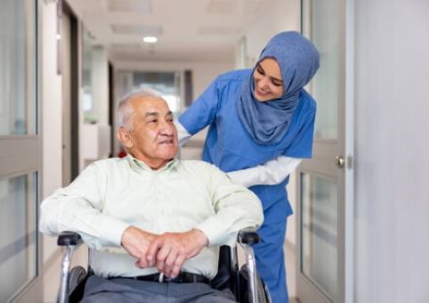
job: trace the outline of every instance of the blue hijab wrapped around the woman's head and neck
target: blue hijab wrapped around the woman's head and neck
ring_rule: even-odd
[[[312,42],[295,31],[272,37],[259,56],[258,63],[265,58],[274,58],[279,63],[283,95],[269,102],[257,101],[252,72],[241,87],[238,110],[239,119],[255,143],[270,145],[279,143],[287,133],[303,87],[319,69],[320,58]]]

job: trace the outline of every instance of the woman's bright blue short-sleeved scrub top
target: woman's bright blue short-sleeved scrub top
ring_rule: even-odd
[[[237,111],[243,81],[252,70],[234,70],[217,77],[206,91],[179,118],[190,135],[209,126],[203,160],[224,172],[252,168],[280,155],[291,158],[312,157],[312,137],[316,103],[305,93],[300,95],[287,134],[279,143],[255,143],[242,126]],[[287,178],[276,185],[255,185],[249,189],[263,202],[263,209],[276,205],[279,219],[292,214],[287,199]]]

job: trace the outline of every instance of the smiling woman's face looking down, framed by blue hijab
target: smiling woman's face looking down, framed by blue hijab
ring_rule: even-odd
[[[255,98],[259,102],[267,102],[283,95],[283,79],[279,63],[272,58],[260,61],[254,71]]]

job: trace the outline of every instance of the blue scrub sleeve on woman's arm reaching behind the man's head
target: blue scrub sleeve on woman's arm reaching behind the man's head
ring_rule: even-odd
[[[219,105],[219,78],[206,88],[197,100],[179,117],[179,122],[190,133],[195,135],[216,119]]]

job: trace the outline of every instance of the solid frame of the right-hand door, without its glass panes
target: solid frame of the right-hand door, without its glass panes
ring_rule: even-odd
[[[301,10],[303,11],[301,1]],[[304,12],[303,12],[304,13]],[[296,276],[298,299],[302,303],[328,303],[330,299],[301,274],[302,249],[302,197],[301,173],[336,176],[337,184],[337,295],[336,302],[353,302],[354,272],[354,0],[339,0],[338,24],[338,104],[337,140],[315,139],[312,160],[304,160],[297,169],[297,228],[296,228]],[[304,16],[303,16],[304,19]],[[303,20],[302,20],[303,21]],[[303,22],[302,22],[303,24]],[[304,27],[302,27],[304,30]],[[336,157],[344,160],[339,168]]]

